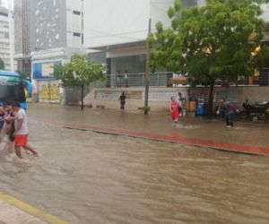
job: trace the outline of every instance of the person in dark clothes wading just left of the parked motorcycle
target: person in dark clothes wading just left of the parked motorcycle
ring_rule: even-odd
[[[233,117],[236,113],[236,108],[227,102],[224,98],[221,98],[219,101],[219,108],[217,110],[217,115],[224,115],[226,126],[233,127]]]

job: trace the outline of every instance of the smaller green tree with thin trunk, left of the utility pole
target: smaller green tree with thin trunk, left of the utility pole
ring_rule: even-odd
[[[104,66],[91,64],[89,56],[74,55],[70,62],[65,65],[55,65],[55,75],[60,80],[63,87],[81,87],[82,105],[84,86],[91,82],[104,79]]]

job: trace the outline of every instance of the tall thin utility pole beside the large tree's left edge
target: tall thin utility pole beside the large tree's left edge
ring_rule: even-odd
[[[149,20],[149,32],[152,32],[152,19]],[[150,74],[150,47],[147,46],[147,58],[146,58],[146,67],[145,67],[145,90],[144,90],[144,107],[143,114],[147,115],[149,113],[149,90],[150,90],[150,82],[151,82],[151,74]]]

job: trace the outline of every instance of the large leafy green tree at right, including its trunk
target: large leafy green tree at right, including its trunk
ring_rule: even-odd
[[[265,24],[258,16],[268,0],[207,0],[203,7],[182,9],[179,0],[169,8],[171,28],[157,23],[148,37],[154,48],[152,67],[187,74],[191,84],[209,85],[207,115],[213,111],[214,82],[224,76],[236,81],[252,75],[262,63],[256,51]]]

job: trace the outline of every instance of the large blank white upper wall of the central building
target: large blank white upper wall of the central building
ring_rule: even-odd
[[[84,1],[84,47],[143,40],[149,17],[150,0]]]

